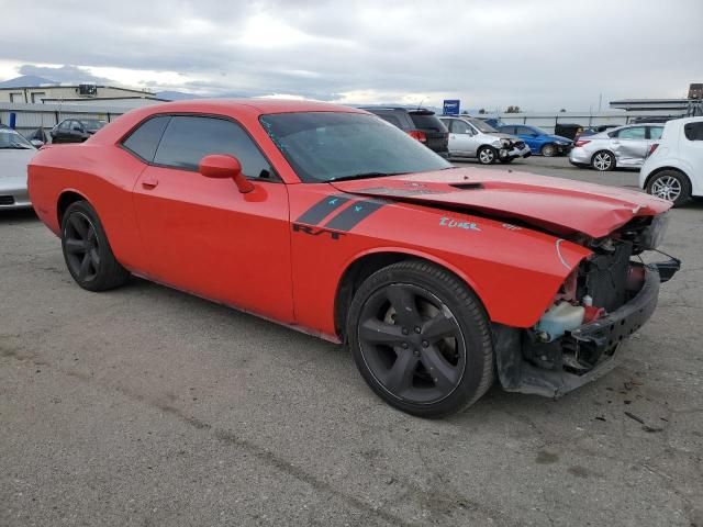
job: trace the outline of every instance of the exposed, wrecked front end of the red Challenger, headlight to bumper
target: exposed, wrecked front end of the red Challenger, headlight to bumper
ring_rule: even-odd
[[[634,259],[658,246],[666,215],[637,218],[606,238],[567,278],[531,328],[494,325],[499,378],[507,391],[558,397],[606,373],[620,345],[654,314],[659,285],[680,268]]]

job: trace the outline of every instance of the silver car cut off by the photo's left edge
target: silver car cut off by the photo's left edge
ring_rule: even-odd
[[[26,166],[36,148],[14,130],[0,124],[0,210],[32,206]]]

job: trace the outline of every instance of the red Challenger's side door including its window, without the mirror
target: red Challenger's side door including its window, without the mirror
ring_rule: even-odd
[[[255,190],[199,173],[210,154],[237,157]],[[149,278],[293,322],[288,191],[239,124],[171,116],[133,197]]]

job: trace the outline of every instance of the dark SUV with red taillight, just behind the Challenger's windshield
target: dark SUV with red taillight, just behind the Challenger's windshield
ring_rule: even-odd
[[[449,131],[432,110],[387,106],[362,106],[361,109],[399,127],[442,157],[449,156]]]

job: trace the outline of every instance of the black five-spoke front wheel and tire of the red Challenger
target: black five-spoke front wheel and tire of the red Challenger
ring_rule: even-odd
[[[490,325],[480,301],[432,264],[401,261],[371,274],[352,302],[347,336],[371,390],[412,415],[460,412],[493,383]]]

